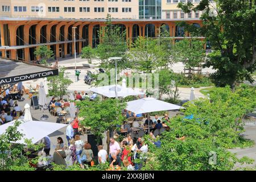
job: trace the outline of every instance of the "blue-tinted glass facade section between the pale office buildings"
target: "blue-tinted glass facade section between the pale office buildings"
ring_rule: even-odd
[[[161,0],[139,0],[139,19],[161,19]]]

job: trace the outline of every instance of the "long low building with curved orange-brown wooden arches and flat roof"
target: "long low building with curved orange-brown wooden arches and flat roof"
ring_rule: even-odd
[[[190,24],[201,24],[199,19],[184,20]],[[98,30],[105,26],[105,21],[105,19],[0,17],[0,55],[13,60],[38,60],[39,57],[35,57],[34,51],[36,47],[44,45],[52,49],[55,59],[72,56],[75,53],[74,34],[76,35],[76,53],[79,54],[82,47],[95,47],[99,43]],[[138,36],[157,37],[163,24],[166,24],[170,37],[174,40],[189,37],[190,35],[184,32],[182,27],[176,26],[177,21],[180,19],[112,20],[122,28],[122,31],[126,30],[126,40],[129,44]]]

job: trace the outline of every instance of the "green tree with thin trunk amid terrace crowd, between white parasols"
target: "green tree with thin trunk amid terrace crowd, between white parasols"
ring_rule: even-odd
[[[107,144],[109,152],[110,133],[116,129],[117,125],[122,125],[124,119],[122,110],[126,104],[116,99],[106,99],[103,101],[82,101],[78,102],[79,116],[84,119],[80,121],[80,125],[90,127],[90,131],[99,139],[104,137],[107,131]]]

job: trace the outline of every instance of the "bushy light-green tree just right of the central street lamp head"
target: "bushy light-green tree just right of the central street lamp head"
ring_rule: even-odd
[[[159,49],[156,40],[139,36],[128,53],[130,64],[138,71],[152,73],[158,66]]]

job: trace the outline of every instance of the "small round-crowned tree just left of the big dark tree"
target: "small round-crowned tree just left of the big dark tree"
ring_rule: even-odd
[[[204,42],[197,39],[183,39],[176,42],[172,48],[172,59],[181,61],[186,68],[198,67],[204,61]]]

